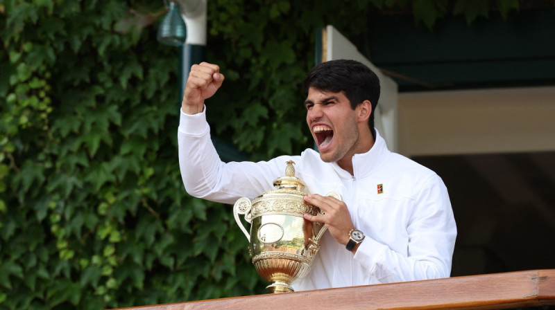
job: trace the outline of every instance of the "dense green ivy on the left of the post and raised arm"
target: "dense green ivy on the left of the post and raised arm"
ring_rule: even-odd
[[[260,291],[229,210],[182,188],[178,50],[114,30],[148,6],[1,4],[0,309]]]

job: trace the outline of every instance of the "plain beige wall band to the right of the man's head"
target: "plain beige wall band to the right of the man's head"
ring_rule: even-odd
[[[555,150],[555,87],[399,93],[405,156]]]

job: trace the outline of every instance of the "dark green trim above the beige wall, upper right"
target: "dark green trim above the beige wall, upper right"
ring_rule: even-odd
[[[553,84],[553,17],[552,10],[523,10],[470,26],[461,16],[446,17],[430,31],[413,26],[411,15],[376,15],[366,56],[395,73],[400,91]]]

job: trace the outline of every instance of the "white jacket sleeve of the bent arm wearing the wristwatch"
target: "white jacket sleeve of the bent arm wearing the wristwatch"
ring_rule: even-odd
[[[434,174],[414,201],[407,226],[408,255],[368,238],[355,259],[382,283],[449,277],[456,239],[456,224],[447,188]]]

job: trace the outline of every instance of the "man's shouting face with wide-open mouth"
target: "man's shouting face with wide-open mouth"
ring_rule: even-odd
[[[323,161],[348,161],[359,148],[356,110],[343,92],[308,90],[307,124]],[[341,163],[339,163],[341,165]]]

